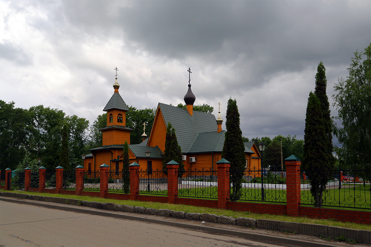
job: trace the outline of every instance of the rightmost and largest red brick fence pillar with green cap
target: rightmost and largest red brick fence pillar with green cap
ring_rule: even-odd
[[[300,203],[300,165],[301,159],[292,155],[285,159],[286,165],[286,214],[299,216]]]

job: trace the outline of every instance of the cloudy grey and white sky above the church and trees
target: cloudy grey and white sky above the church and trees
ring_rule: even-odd
[[[371,1],[17,0],[0,1],[0,18],[1,100],[92,124],[115,67],[137,109],[184,103],[190,67],[195,104],[217,117],[220,101],[225,122],[235,98],[248,138],[303,138],[318,63],[332,104],[354,51],[371,42]]]

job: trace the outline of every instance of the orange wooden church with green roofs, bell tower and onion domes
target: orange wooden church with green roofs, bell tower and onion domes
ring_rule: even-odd
[[[129,161],[136,162],[142,170],[147,169],[146,152],[150,151],[149,160],[152,170],[162,170],[163,154],[165,151],[166,126],[168,123],[175,128],[178,144],[183,154],[184,168],[214,169],[216,162],[221,159],[224,145],[225,130],[221,129],[223,120],[215,119],[213,114],[193,111],[196,97],[192,93],[189,81],[188,91],[184,96],[187,109],[158,103],[150,136],[143,133],[140,144],[130,145],[131,128],[126,127],[127,104],[120,96],[120,85],[113,85],[114,94],[103,111],[107,112],[107,127],[100,129],[103,134],[102,147],[93,148],[91,154],[84,160],[85,171],[98,171],[99,166],[107,164],[110,170],[122,170],[122,151],[125,141],[129,144]],[[246,169],[260,169],[261,156],[253,142],[244,143]]]

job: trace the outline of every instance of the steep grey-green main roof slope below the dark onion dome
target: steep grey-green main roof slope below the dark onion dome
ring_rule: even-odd
[[[214,132],[217,129],[213,114],[193,111],[191,116],[187,109],[158,103],[165,125],[169,122],[175,128],[178,144],[182,152],[186,152],[192,145],[198,133]]]

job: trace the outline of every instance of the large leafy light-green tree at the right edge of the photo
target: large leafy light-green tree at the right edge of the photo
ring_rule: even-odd
[[[366,58],[362,61],[362,56]],[[342,166],[348,169],[370,171],[371,150],[371,43],[364,52],[356,51],[348,68],[347,79],[338,79],[332,95],[333,106],[338,110],[334,134],[342,143],[338,155]],[[370,179],[370,173],[360,175]]]

